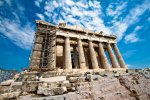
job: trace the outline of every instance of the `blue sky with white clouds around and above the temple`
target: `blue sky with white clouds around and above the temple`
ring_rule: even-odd
[[[150,0],[0,0],[0,67],[29,66],[35,20],[116,35],[129,68],[150,67]]]

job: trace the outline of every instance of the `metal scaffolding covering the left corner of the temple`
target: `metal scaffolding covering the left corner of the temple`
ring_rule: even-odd
[[[34,45],[31,55],[32,60],[40,60],[40,68],[53,67],[55,63],[55,47],[56,47],[56,28],[53,26],[44,26],[37,24]],[[38,41],[37,38],[40,38],[42,41]],[[36,44],[41,44],[40,49],[36,48]],[[34,58],[33,52],[41,53],[40,57]],[[30,63],[30,65],[31,65]]]

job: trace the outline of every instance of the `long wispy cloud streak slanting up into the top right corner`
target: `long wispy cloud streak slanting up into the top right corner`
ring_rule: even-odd
[[[145,0],[143,4],[136,5],[134,8],[132,8],[127,14],[127,16],[122,20],[112,20],[112,26],[110,27],[114,34],[117,35],[118,41],[122,39],[122,37],[125,35],[126,30],[136,22],[140,20],[140,16],[144,14],[144,12],[149,9],[150,3]],[[121,7],[122,8],[122,7]],[[115,16],[116,17],[116,16]],[[117,16],[118,17],[118,16]],[[135,34],[135,33],[134,33]],[[133,41],[138,41],[138,38],[136,35],[132,34]],[[128,37],[131,37],[130,35]],[[127,39],[128,40],[128,39]]]

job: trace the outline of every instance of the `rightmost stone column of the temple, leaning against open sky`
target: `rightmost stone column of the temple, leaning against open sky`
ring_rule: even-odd
[[[119,61],[120,67],[121,68],[127,68],[126,65],[125,65],[125,62],[124,62],[124,60],[123,60],[123,58],[121,56],[121,53],[120,53],[120,51],[119,51],[119,49],[117,47],[117,44],[113,44],[113,47],[114,47],[114,51],[116,53],[117,59]]]

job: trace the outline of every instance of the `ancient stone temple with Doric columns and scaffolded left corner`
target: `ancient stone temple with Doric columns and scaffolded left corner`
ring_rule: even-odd
[[[58,26],[36,20],[31,70],[119,70],[127,69],[116,44],[116,36],[79,26]]]

